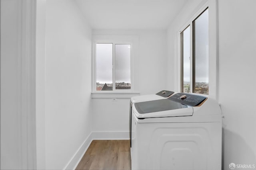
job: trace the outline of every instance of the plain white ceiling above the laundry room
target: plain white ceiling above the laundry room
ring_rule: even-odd
[[[166,29],[188,0],[76,0],[92,29]]]

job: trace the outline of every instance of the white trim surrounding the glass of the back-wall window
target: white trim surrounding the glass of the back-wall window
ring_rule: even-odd
[[[96,91],[96,43],[113,43],[114,44],[130,44],[131,45],[131,89],[129,90],[115,90],[109,91],[116,92],[134,92],[137,89],[137,83],[134,82],[134,59],[138,55],[138,36],[136,35],[92,35],[92,93]],[[114,53],[114,49],[113,49]],[[115,56],[113,55],[113,60]],[[114,63],[113,63],[114,64]],[[115,80],[115,73],[113,67],[113,83]],[[101,93],[104,93],[101,91]],[[105,94],[105,93],[104,93]]]

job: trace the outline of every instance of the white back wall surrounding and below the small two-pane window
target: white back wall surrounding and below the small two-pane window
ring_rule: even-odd
[[[134,81],[138,82],[136,89],[141,95],[166,89],[165,30],[93,30],[93,35],[138,35],[139,52],[138,58],[134,59]],[[93,131],[114,132],[109,135],[110,138],[128,139],[129,102],[130,98],[118,98],[115,102],[111,98],[93,98]],[[115,133],[118,131],[126,133],[118,136]],[[103,135],[97,138],[104,138]]]

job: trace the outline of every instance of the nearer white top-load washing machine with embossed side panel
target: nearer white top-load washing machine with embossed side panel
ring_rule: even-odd
[[[132,103],[132,170],[221,170],[218,103],[182,93],[151,99]]]

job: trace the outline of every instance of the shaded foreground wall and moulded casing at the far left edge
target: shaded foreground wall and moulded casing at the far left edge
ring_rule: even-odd
[[[1,168],[36,168],[35,14],[32,0],[1,1]]]

